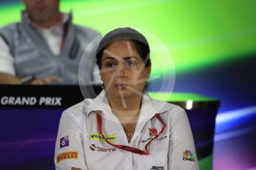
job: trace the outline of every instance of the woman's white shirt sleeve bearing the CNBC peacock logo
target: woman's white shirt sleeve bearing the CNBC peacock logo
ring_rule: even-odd
[[[174,116],[170,131],[168,169],[199,169],[194,139],[184,109]]]

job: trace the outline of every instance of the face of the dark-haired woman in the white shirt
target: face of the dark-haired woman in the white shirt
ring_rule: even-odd
[[[151,66],[144,66],[143,59],[129,40],[115,41],[103,51],[100,75],[109,96],[142,96],[150,72]]]

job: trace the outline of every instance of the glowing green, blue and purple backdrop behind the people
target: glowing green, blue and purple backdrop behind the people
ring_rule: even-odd
[[[1,0],[0,5],[0,26],[20,20],[19,11],[24,9],[20,1]],[[157,57],[152,60],[151,76],[160,77],[151,81],[151,90],[194,92],[220,99],[213,169],[256,167],[255,6],[255,1],[231,0],[61,1],[63,11],[73,11],[76,24],[92,27],[99,33],[116,27],[136,27],[145,30],[142,33],[159,38],[160,41],[149,42],[158,50]],[[160,60],[170,60],[170,56],[162,51],[163,46],[171,52],[174,70],[168,62],[157,64]],[[163,80],[173,78],[174,71],[174,89],[163,88]],[[18,120],[13,118],[10,126],[15,121]],[[47,128],[42,132],[50,132],[50,128],[55,127]],[[18,132],[19,129],[16,134],[11,134],[17,141],[22,135]],[[0,143],[2,146],[7,144]],[[24,144],[18,146],[22,148]]]

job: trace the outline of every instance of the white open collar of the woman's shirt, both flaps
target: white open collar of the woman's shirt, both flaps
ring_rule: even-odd
[[[111,107],[108,103],[105,90],[102,90],[102,92],[100,92],[96,98],[85,99],[84,102],[85,105],[83,109],[87,118],[91,112],[97,110],[102,111],[102,114],[112,115]],[[163,113],[173,106],[174,105],[170,103],[154,100],[148,95],[148,93],[145,92],[142,96],[142,107],[140,110],[140,117],[138,122],[151,119],[156,113]]]

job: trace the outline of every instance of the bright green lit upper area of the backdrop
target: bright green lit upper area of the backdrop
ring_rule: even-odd
[[[149,41],[158,50],[152,58],[152,74],[171,72],[169,64],[157,64],[171,52],[177,73],[202,69],[256,52],[255,1],[116,1],[62,0],[61,9],[73,11],[76,24],[105,33],[116,27],[138,27],[158,37]],[[19,21],[20,3],[0,7],[0,25]]]

